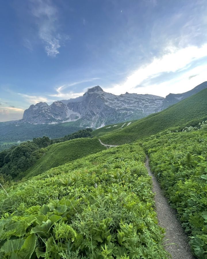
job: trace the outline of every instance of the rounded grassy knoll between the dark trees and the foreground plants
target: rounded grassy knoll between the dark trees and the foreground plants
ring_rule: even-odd
[[[69,161],[85,157],[106,149],[97,138],[78,138],[60,142],[47,147],[47,152],[20,177],[29,178],[41,174],[50,168],[63,165]]]

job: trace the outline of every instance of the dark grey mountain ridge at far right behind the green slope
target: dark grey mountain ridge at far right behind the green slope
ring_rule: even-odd
[[[203,82],[200,85],[197,85],[196,87],[194,87],[193,89],[191,89],[188,92],[185,92],[182,94],[168,94],[163,101],[162,109],[165,109],[170,105],[173,105],[181,100],[184,100],[185,98],[200,92],[201,90],[205,89],[206,87],[207,87],[207,81]]]

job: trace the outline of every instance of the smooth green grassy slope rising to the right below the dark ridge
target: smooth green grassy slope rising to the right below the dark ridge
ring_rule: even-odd
[[[196,125],[207,119],[206,100],[207,89],[204,89],[164,111],[151,114],[117,132],[101,136],[101,140],[106,144],[125,144],[168,128],[182,129],[186,125]]]

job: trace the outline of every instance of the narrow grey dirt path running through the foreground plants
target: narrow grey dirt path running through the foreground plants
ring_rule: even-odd
[[[179,259],[193,259],[188,246],[188,239],[185,235],[180,222],[177,220],[176,212],[168,204],[167,199],[163,196],[160,186],[152,172],[150,171],[149,158],[146,157],[145,166],[148,174],[152,177],[153,192],[155,194],[156,212],[158,217],[158,224],[165,228],[165,249],[172,255],[172,258]]]

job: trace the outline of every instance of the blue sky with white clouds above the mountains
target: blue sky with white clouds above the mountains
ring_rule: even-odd
[[[0,8],[0,121],[31,104],[207,81],[206,0],[10,0]]]

